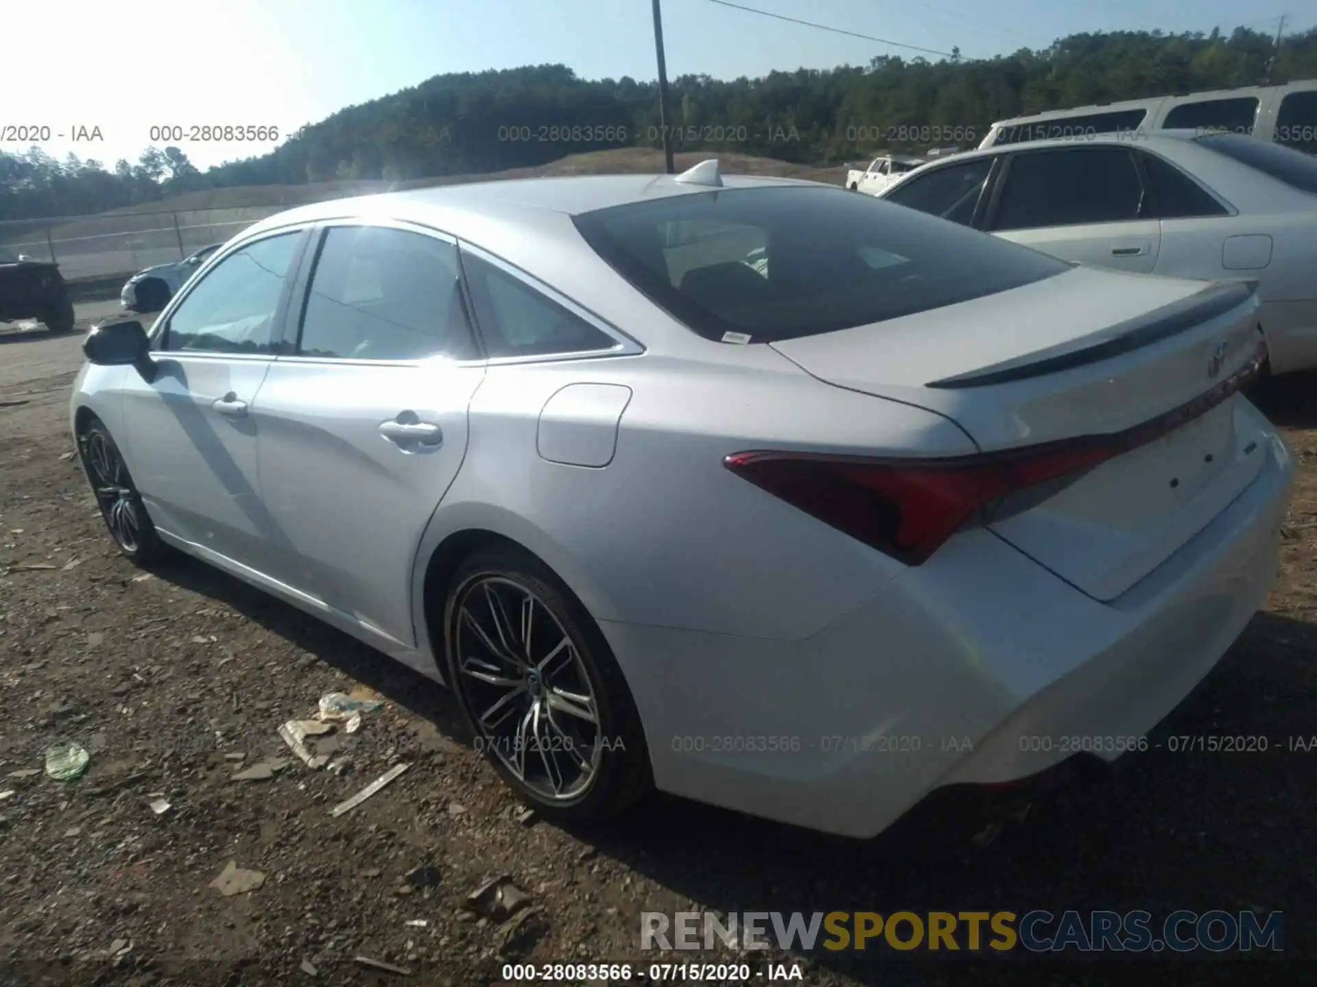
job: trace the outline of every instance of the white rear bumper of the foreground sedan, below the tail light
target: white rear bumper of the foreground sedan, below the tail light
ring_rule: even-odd
[[[942,786],[1138,749],[1275,576],[1293,466],[1262,428],[1256,479],[1108,604],[975,530],[805,641],[601,621],[656,784],[871,837]]]

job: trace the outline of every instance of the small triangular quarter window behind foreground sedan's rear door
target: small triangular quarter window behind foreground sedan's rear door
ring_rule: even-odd
[[[608,350],[607,333],[535,287],[474,254],[462,254],[486,355],[549,357]]]

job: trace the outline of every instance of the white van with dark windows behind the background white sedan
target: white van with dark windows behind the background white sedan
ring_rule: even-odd
[[[1317,79],[1054,109],[998,121],[979,146],[1150,130],[1251,134],[1317,154]]]

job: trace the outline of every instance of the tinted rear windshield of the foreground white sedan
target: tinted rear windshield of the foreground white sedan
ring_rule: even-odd
[[[840,188],[676,195],[583,213],[576,225],[652,301],[706,338],[732,333],[727,342],[881,322],[1069,270]]]

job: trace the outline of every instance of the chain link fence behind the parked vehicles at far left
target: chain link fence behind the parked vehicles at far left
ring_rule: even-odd
[[[65,280],[132,274],[220,243],[287,205],[103,213],[0,222],[0,253],[54,261]]]

